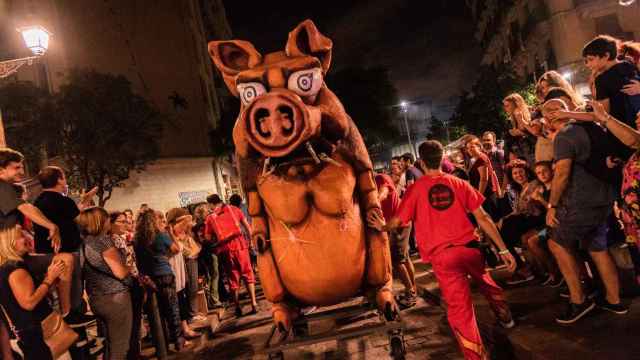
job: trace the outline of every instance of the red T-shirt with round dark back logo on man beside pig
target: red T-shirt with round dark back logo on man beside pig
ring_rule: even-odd
[[[476,239],[467,214],[483,202],[482,194],[455,176],[423,176],[407,190],[396,216],[413,221],[420,257],[429,261],[449,245]]]

